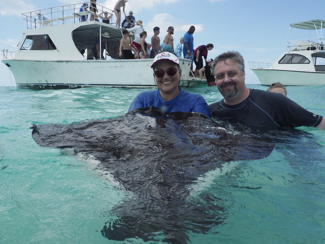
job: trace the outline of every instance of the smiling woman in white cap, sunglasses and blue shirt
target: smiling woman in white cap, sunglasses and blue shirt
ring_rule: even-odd
[[[211,117],[208,104],[202,96],[180,88],[182,70],[179,59],[173,53],[158,53],[151,68],[158,89],[138,94],[128,111],[153,106],[167,113],[200,112]]]

